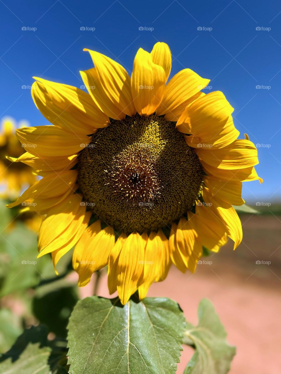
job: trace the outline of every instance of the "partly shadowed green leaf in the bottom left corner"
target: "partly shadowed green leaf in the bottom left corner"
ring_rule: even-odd
[[[12,348],[0,358],[0,373],[66,374],[66,342],[49,341],[43,325],[24,330]]]

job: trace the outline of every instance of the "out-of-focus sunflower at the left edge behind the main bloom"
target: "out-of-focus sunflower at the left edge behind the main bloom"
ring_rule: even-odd
[[[23,163],[14,163],[24,148],[16,137],[16,127],[25,128],[29,126],[26,121],[20,121],[16,125],[15,120],[6,117],[0,125],[0,197],[6,200],[15,200],[19,194],[37,180],[34,171],[30,166]],[[7,159],[7,154],[10,155]],[[17,211],[15,219],[9,225],[13,227],[16,221],[22,221],[33,231],[38,231],[41,224],[41,217],[35,212],[29,212],[26,206],[22,207],[21,214]]]

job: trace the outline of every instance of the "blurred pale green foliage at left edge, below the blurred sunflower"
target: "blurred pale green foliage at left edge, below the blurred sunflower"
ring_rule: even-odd
[[[1,201],[0,297],[56,278],[50,255],[37,258],[37,234],[16,221],[7,229],[12,219],[10,210],[3,205]],[[57,270],[60,274],[67,272],[70,257],[71,251],[59,261]]]

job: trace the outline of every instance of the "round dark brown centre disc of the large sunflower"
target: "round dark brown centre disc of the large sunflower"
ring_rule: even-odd
[[[97,130],[78,169],[93,213],[127,234],[170,226],[193,207],[203,177],[197,154],[172,122],[138,114]]]

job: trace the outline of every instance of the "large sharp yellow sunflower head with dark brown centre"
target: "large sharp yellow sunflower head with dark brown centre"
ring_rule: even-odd
[[[125,304],[145,297],[173,262],[194,272],[202,248],[236,248],[242,181],[262,180],[254,144],[237,139],[233,108],[190,69],[166,84],[171,53],[156,43],[124,67],[86,49],[94,67],[84,88],[34,78],[32,96],[52,123],[17,131],[25,154],[16,159],[43,178],[10,204],[36,203],[45,214],[39,257],[54,267],[73,246],[79,286],[108,265],[108,287]]]

